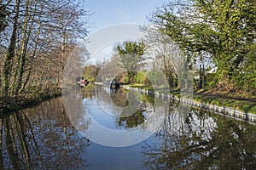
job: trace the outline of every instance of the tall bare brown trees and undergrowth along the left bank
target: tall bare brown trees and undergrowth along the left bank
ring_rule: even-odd
[[[70,0],[0,1],[0,8],[0,110],[60,94],[65,61],[90,14]]]

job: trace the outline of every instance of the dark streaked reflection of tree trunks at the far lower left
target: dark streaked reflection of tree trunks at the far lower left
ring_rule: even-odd
[[[32,125],[25,113],[15,112],[2,119],[1,152],[0,169],[32,169],[32,160],[35,157],[43,165]]]

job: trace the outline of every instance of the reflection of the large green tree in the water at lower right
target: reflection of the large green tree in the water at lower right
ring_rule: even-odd
[[[256,127],[200,111],[166,116],[158,142],[143,146],[151,169],[252,169],[256,167]]]

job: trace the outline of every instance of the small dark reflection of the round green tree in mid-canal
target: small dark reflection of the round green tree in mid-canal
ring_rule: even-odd
[[[125,126],[128,128],[137,127],[140,124],[143,124],[145,116],[143,116],[143,111],[136,111],[131,116],[120,116],[119,117],[119,126]]]

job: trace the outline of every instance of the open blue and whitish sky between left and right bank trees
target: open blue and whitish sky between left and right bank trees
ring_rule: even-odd
[[[113,31],[115,26],[121,24],[136,24],[144,25],[148,23],[149,17],[156,8],[163,3],[168,3],[170,0],[84,0],[85,10],[93,13],[90,18],[89,28],[89,43],[86,48],[90,53],[88,64],[102,62],[110,59],[113,54],[114,41],[111,39],[115,34],[122,34],[124,37],[134,26],[127,26],[127,31],[124,29]],[[112,27],[112,31],[108,28]],[[118,26],[117,26],[118,27]],[[103,31],[103,35],[101,34]],[[116,33],[115,33],[116,32]],[[137,35],[137,32],[129,33]],[[126,39],[119,39],[120,42]],[[137,41],[137,38],[133,38]],[[106,42],[102,45],[102,42]],[[101,45],[99,45],[101,44]]]

